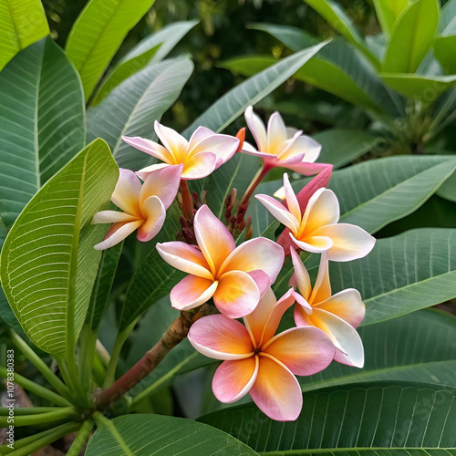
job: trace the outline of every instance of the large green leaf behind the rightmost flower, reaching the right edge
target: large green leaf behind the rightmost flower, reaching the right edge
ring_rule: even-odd
[[[369,233],[415,211],[453,172],[456,159],[451,156],[389,157],[363,161],[335,171],[328,188],[340,203],[340,221],[354,223]],[[308,178],[292,183],[299,192]],[[280,181],[264,182],[256,193],[274,194]],[[263,204],[252,201],[254,235],[264,233],[274,217]]]

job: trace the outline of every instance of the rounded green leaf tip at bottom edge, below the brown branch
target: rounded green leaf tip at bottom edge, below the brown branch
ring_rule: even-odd
[[[88,441],[86,456],[249,456],[252,449],[211,426],[183,418],[138,414],[103,420]]]

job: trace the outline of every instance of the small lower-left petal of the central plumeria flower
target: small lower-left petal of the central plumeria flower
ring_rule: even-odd
[[[217,282],[187,275],[171,290],[171,306],[179,310],[189,310],[207,303],[217,289]]]

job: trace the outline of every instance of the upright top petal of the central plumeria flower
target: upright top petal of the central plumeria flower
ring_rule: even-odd
[[[225,259],[236,248],[233,236],[205,204],[196,212],[193,226],[202,254],[210,265],[212,274],[216,275]]]

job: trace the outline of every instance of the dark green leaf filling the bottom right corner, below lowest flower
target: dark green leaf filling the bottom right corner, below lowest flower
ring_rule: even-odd
[[[435,456],[456,454],[456,389],[368,383],[305,393],[295,422],[270,420],[254,404],[200,418],[260,454]]]

